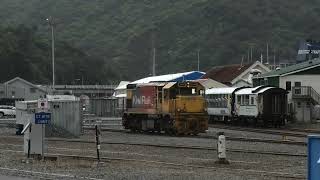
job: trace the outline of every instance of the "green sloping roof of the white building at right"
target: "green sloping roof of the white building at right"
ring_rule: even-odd
[[[273,70],[271,72],[262,74],[256,78],[273,77],[273,76],[286,76],[286,75],[293,74],[296,72],[312,69],[312,68],[318,67],[318,66],[320,66],[320,58],[305,61],[305,62],[298,63],[295,65],[291,65],[291,66],[288,66],[283,69]]]

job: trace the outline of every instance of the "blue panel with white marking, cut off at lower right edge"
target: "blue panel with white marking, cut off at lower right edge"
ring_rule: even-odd
[[[320,135],[308,136],[308,180],[320,179]]]

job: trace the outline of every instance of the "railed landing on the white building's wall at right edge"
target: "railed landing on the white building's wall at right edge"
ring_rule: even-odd
[[[292,98],[309,98],[320,103],[320,95],[311,86],[292,87]]]

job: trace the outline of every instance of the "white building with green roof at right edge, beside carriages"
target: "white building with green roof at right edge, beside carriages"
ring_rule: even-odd
[[[320,59],[304,61],[253,78],[253,85],[276,86],[288,91],[288,111],[299,122],[312,122],[320,104]]]

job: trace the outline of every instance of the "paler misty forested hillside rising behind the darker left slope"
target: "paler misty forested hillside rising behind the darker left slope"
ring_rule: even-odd
[[[56,19],[56,40],[107,62],[121,79],[151,73],[156,47],[158,73],[201,70],[240,63],[276,49],[277,59],[295,58],[297,42],[320,39],[317,0],[1,0],[2,26],[36,27],[49,39],[45,19]],[[153,42],[153,43],[152,43]],[[246,59],[246,57],[244,57]],[[61,66],[61,68],[64,68]],[[67,71],[67,70],[66,70]],[[119,79],[115,74],[101,77]]]

